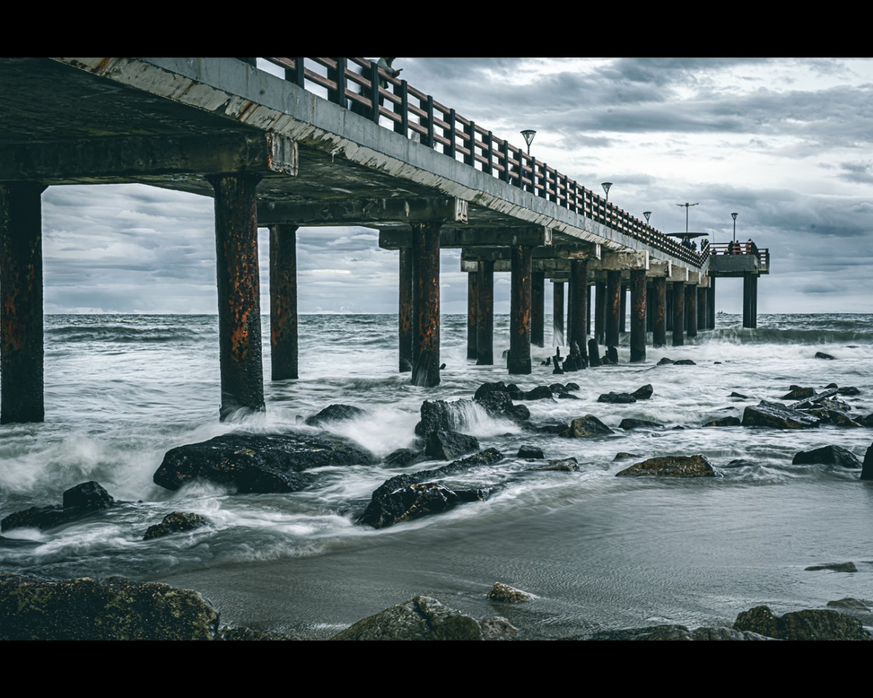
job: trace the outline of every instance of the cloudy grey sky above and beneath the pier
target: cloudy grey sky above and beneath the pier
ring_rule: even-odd
[[[264,67],[266,67],[265,64]],[[873,312],[873,59],[397,58],[402,78],[663,232],[771,251],[759,312]],[[43,195],[46,312],[215,313],[212,200],[141,185]],[[300,229],[300,312],[396,312],[374,230]],[[269,312],[267,231],[259,234]],[[443,312],[466,312],[459,250]],[[496,311],[509,310],[498,275]],[[550,285],[550,284],[547,284]],[[741,312],[740,279],[717,309]],[[546,289],[551,308],[551,288]]]

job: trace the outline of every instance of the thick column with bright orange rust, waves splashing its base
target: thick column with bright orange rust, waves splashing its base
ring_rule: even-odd
[[[221,419],[237,410],[263,412],[261,304],[258,277],[260,175],[210,175],[215,188],[218,356]]]

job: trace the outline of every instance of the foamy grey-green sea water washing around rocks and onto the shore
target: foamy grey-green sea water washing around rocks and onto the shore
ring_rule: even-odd
[[[782,613],[843,597],[871,603],[873,482],[859,481],[856,469],[791,461],[828,444],[863,459],[873,429],[701,425],[780,400],[792,384],[857,387],[860,394],[842,400],[852,414],[873,413],[873,315],[761,315],[755,330],[740,320],[719,314],[715,330],[682,347],[648,346],[638,364],[628,363],[622,334],[620,365],[562,376],[540,366],[553,347],[533,347],[533,373],[511,379],[499,359],[508,347],[506,316],[495,318],[498,365],[475,366],[466,359],[465,316],[445,315],[443,382],[423,388],[397,373],[395,316],[301,316],[299,380],[269,379],[267,341],[266,413],[220,423],[217,317],[46,316],[45,423],[0,427],[0,517],[59,503],[65,489],[90,480],[128,504],[52,530],[6,531],[19,544],[0,546],[0,571],[167,582],[202,592],[223,624],[311,639],[416,594],[479,618],[503,615],[520,639],[731,625],[738,612],[761,604]],[[268,325],[264,318],[265,338]],[[836,360],[815,359],[818,351]],[[696,366],[656,366],[665,356]],[[205,482],[172,492],[152,482],[169,448],[240,427],[298,428],[299,417],[332,403],[366,414],[329,430],[385,456],[413,443],[423,400],[469,399],[494,380],[523,389],[572,380],[580,400],[526,401],[531,421],[594,414],[615,434],[564,439],[472,409],[461,430],[506,458],[452,482],[494,487],[494,494],[383,530],[354,525],[372,491],[400,472],[440,463],[323,469],[318,486],[282,495],[237,495]],[[597,402],[601,393],[648,383],[650,400]],[[748,397],[731,398],[733,391]],[[626,417],[667,428],[625,432],[618,424]],[[542,463],[516,457],[522,444],[549,459],[574,456],[580,470],[534,472]],[[639,457],[616,462],[621,451]],[[698,453],[720,476],[615,477],[643,458]],[[735,459],[746,464],[727,467]],[[141,540],[177,510],[211,524]],[[804,570],[849,560],[858,571]],[[485,593],[496,581],[536,599],[491,604]]]

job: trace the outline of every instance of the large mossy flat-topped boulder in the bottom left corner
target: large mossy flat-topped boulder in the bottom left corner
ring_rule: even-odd
[[[197,592],[122,577],[0,574],[0,640],[216,640]]]

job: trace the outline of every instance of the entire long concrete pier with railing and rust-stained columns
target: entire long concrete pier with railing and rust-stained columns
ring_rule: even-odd
[[[479,365],[495,362],[494,274],[511,274],[513,375],[531,373],[531,346],[545,345],[546,279],[553,337],[592,366],[601,346],[615,356],[628,293],[631,361],[645,359],[649,332],[654,346],[668,330],[681,346],[714,327],[717,277],[743,278],[743,325],[757,325],[769,250],[691,250],[365,58],[264,60],[284,78],[254,58],[0,59],[0,421],[45,416],[49,186],[213,198],[222,419],[265,409],[258,227],[270,230],[272,380],[299,376],[303,226],[378,229],[397,250],[398,370],[423,387],[440,381],[442,248],[462,250],[467,357]]]

